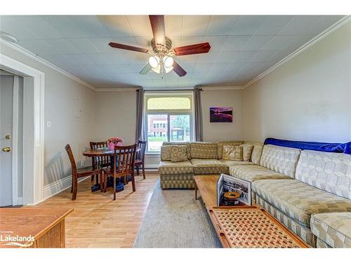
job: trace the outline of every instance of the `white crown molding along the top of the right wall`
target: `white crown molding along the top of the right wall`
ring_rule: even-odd
[[[267,69],[265,72],[259,74],[258,76],[256,76],[256,78],[254,78],[251,81],[249,81],[248,83],[246,83],[243,86],[243,88],[248,88],[249,86],[251,86],[256,81],[262,79],[264,76],[267,76],[267,74],[270,74],[270,72],[274,71],[274,69],[277,69],[278,67],[284,65],[286,62],[288,62],[292,58],[295,58],[297,55],[299,55],[303,51],[307,50],[308,48],[313,46],[315,43],[321,41],[326,36],[329,36],[329,34],[335,32],[340,27],[343,27],[343,25],[347,24],[347,22],[351,22],[351,15],[345,15],[343,18],[338,20],[338,22],[334,23],[333,25],[331,25],[330,27],[325,29],[322,33],[318,34],[313,39],[311,39],[310,41],[305,43],[303,46],[300,46],[300,48],[298,48],[295,51],[293,51],[293,53],[291,53],[290,55],[287,55],[285,58],[283,58],[282,60],[277,62],[277,64],[273,65],[272,67]]]

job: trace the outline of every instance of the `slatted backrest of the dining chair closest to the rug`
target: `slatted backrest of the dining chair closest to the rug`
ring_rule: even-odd
[[[134,168],[136,144],[114,147],[114,173],[131,173]],[[116,163],[118,166],[116,167]]]

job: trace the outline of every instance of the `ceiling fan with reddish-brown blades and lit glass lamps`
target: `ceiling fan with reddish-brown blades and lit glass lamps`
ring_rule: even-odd
[[[121,48],[150,54],[149,63],[141,70],[140,74],[147,74],[150,70],[158,74],[164,74],[173,70],[178,76],[185,76],[187,72],[178,65],[173,57],[208,53],[211,48],[210,44],[206,42],[172,49],[171,39],[165,36],[164,15],[149,15],[149,19],[152,33],[154,34],[154,38],[151,40],[152,50],[139,48],[137,46],[128,46],[121,43],[109,43],[109,46],[112,46],[112,48]]]

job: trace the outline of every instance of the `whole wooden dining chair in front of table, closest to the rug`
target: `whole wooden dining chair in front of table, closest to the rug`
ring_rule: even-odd
[[[102,177],[104,182],[103,190],[107,189],[107,177],[113,177],[113,200],[116,200],[116,179],[124,177],[124,182],[126,182],[126,177],[131,175],[132,188],[135,191],[135,180],[134,180],[134,163],[135,163],[135,150],[136,144],[128,146],[115,146],[114,147],[114,161],[112,168],[107,168],[102,170]]]

